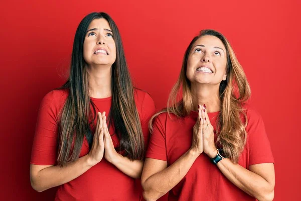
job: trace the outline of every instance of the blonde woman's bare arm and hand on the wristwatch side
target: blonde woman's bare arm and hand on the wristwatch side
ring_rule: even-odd
[[[207,110],[203,107],[202,118],[205,117],[207,121],[204,121],[203,125],[204,153],[210,158],[213,158],[217,155],[217,149],[214,144],[213,127],[210,124]],[[253,147],[253,149],[254,148],[255,147]],[[217,167],[234,185],[249,195],[258,200],[273,199],[275,185],[273,163],[250,165],[249,170],[247,170],[239,164],[233,163],[230,159],[224,158],[217,164]]]

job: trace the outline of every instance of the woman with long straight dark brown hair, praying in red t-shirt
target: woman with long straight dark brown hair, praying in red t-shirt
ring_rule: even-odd
[[[67,82],[42,100],[30,177],[55,200],[140,200],[153,99],[132,85],[120,34],[105,13],[79,24]]]

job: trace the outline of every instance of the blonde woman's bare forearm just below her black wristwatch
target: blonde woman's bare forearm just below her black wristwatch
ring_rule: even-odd
[[[260,175],[225,158],[217,167],[237,187],[258,200],[272,200],[274,187]]]

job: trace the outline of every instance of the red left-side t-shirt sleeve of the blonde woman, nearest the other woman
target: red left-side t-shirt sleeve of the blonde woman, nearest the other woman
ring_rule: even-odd
[[[165,114],[159,115],[153,122],[153,132],[150,134],[146,158],[154,158],[167,161],[166,150],[166,118]]]

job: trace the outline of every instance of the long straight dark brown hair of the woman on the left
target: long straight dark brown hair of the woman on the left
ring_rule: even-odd
[[[84,137],[91,148],[93,137],[91,124],[96,118],[96,109],[89,96],[89,82],[83,57],[86,32],[94,19],[105,19],[112,29],[116,45],[116,60],[112,65],[112,103],[108,115],[109,125],[114,125],[120,145],[116,148],[131,160],[142,159],[144,140],[135,106],[134,87],[127,68],[124,50],[118,28],[106,13],[91,13],[79,24],[73,43],[71,69],[67,82],[60,87],[69,91],[61,112],[59,124],[59,165],[75,161],[80,154]],[[95,126],[95,125],[94,125]]]

